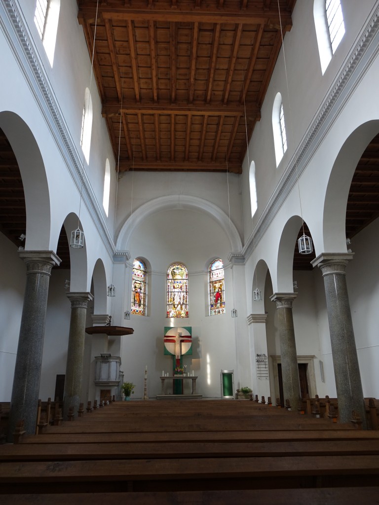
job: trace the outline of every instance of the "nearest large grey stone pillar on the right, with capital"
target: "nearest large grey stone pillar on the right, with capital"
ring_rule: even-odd
[[[321,269],[324,278],[340,421],[349,422],[354,410],[362,420],[362,427],[366,428],[363,390],[345,272],[353,255],[352,252],[324,252],[313,260],[312,264]]]

